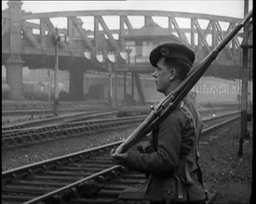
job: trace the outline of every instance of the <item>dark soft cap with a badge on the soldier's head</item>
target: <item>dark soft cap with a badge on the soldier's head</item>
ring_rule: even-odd
[[[158,45],[152,50],[149,56],[152,66],[156,68],[156,64],[161,57],[170,58],[191,67],[195,60],[195,53],[186,45],[168,43]]]

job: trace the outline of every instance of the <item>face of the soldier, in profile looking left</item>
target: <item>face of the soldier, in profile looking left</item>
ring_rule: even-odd
[[[157,68],[152,74],[155,78],[156,90],[163,93],[164,95],[167,95],[169,85],[171,83],[171,71],[165,64],[164,58],[160,58],[156,66]]]

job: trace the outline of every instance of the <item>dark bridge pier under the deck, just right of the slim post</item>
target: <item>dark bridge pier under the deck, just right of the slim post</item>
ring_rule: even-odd
[[[70,70],[70,89],[69,96],[71,100],[78,101],[84,99],[84,69],[73,67]]]

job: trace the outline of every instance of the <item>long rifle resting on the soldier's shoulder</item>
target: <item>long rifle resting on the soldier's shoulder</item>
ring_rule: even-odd
[[[147,118],[141,122],[139,127],[128,136],[125,141],[115,149],[115,153],[123,153],[127,151],[130,147],[135,145],[141,140],[141,137],[150,133],[166,116],[168,116],[171,111],[182,101],[183,97],[188,94],[192,87],[197,83],[204,72],[209,68],[212,61],[219,55],[225,45],[227,45],[231,39],[240,31],[242,27],[249,21],[252,17],[252,10],[241,19],[232,32],[228,33],[222,40],[221,44],[217,45],[207,57],[205,57],[202,62],[194,66],[185,80],[180,83],[168,96],[165,96],[153,110],[147,116]]]

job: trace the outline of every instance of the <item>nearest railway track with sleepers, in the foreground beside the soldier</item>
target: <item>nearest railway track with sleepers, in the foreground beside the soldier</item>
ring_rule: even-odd
[[[210,134],[238,118],[236,114],[212,119],[215,122],[205,121],[211,124],[203,134]],[[138,192],[128,190],[141,188],[145,184],[144,175],[114,165],[109,157],[110,150],[121,143],[2,172],[2,203],[148,203]],[[120,192],[124,192],[123,199],[118,200]]]

